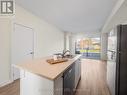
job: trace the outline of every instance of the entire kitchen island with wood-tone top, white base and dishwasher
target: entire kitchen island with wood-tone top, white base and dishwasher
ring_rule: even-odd
[[[20,95],[74,95],[81,77],[80,57],[58,64],[47,63],[50,57],[45,57],[17,65]]]

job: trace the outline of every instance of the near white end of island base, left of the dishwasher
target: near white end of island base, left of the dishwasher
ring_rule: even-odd
[[[20,77],[20,95],[63,95],[62,76],[49,80],[21,70]]]

